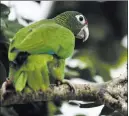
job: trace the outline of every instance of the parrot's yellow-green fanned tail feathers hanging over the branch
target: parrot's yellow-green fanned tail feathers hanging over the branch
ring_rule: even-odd
[[[26,88],[28,91],[28,87],[33,91],[45,91],[50,85],[48,62],[53,60],[53,56],[27,54],[24,59],[20,67],[19,64],[16,64],[16,67],[10,66],[9,78],[13,80],[16,91],[20,92]]]

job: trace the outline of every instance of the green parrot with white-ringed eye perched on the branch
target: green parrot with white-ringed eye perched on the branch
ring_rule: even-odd
[[[63,83],[65,60],[74,52],[75,38],[84,42],[88,37],[88,21],[77,11],[66,11],[20,29],[10,43],[10,71],[3,93],[10,82],[17,92],[45,91],[52,80],[50,75]]]

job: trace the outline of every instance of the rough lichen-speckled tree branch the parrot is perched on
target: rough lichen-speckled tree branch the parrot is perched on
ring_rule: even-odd
[[[124,73],[119,78],[102,84],[74,84],[75,93],[70,91],[68,85],[59,87],[51,85],[46,92],[10,93],[6,99],[0,100],[0,102],[2,106],[7,106],[53,99],[94,101],[127,115],[127,81],[127,73]]]

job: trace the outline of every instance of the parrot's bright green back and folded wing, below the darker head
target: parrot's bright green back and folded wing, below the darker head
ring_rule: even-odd
[[[30,54],[54,52],[61,58],[67,58],[72,55],[74,44],[75,38],[69,29],[53,20],[44,20],[40,24],[32,24],[21,29],[14,36],[9,49],[9,60],[15,60],[19,51],[27,51]]]

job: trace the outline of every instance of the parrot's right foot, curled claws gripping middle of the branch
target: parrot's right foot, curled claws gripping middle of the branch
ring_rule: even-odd
[[[76,89],[75,89],[74,85],[72,83],[70,83],[68,80],[63,80],[63,81],[57,80],[56,81],[57,86],[62,85],[62,84],[67,84],[70,87],[70,91],[72,93],[76,92]]]

